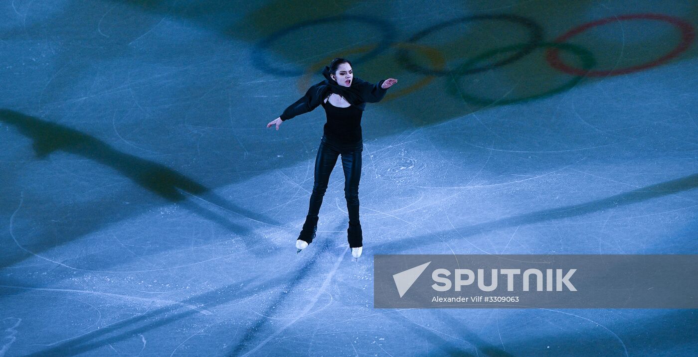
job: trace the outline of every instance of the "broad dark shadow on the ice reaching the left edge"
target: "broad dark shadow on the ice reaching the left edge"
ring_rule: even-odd
[[[268,218],[248,211],[244,208],[230,204],[222,197],[219,197],[209,188],[188,178],[184,174],[161,165],[157,162],[145,160],[138,156],[128,153],[122,153],[105,142],[87,135],[84,132],[62,126],[57,123],[51,123],[38,119],[34,116],[27,116],[19,112],[14,112],[8,109],[0,109],[0,122],[6,123],[17,128],[25,137],[32,140],[32,147],[37,158],[47,158],[50,154],[58,151],[78,155],[82,158],[98,162],[106,167],[111,167],[116,170],[121,176],[124,176],[141,188],[153,192],[158,197],[165,199],[166,202],[177,202],[182,206],[193,211],[197,215],[202,216],[207,220],[216,222],[228,229],[233,234],[243,237],[243,242],[246,248],[255,253],[253,242],[251,240],[252,231],[248,227],[244,227],[235,222],[232,222],[228,213],[232,213],[235,218],[243,220],[251,220],[254,225],[274,225],[278,226],[278,222],[269,220]],[[138,195],[142,199],[142,195]],[[214,206],[214,208],[207,208]],[[132,208],[131,208],[132,209]],[[103,217],[94,217],[95,215],[104,214],[110,211],[109,207],[102,206],[100,209],[91,209],[89,213],[84,215],[92,215],[91,222],[105,220]],[[223,213],[218,213],[221,211]],[[75,231],[80,231],[86,234],[90,230],[98,229],[98,227],[75,227]],[[63,241],[53,241],[53,243],[37,242],[32,246],[37,247],[34,252],[48,250],[55,246],[67,243],[73,238],[64,239]],[[257,253],[255,253],[257,254]],[[9,259],[3,261],[2,266],[9,266],[23,258]]]

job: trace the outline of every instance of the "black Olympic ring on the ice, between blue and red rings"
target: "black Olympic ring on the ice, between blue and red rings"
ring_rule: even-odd
[[[418,33],[416,33],[414,36],[412,36],[406,42],[415,43],[415,42],[417,42],[417,40],[419,40],[420,38],[423,38],[424,36],[428,35],[429,33],[432,33],[434,31],[438,31],[440,29],[443,29],[444,27],[451,26],[451,25],[457,24],[459,22],[470,22],[473,20],[505,20],[505,21],[509,21],[509,22],[516,22],[517,24],[521,24],[530,30],[530,40],[528,40],[528,43],[526,43],[526,47],[523,47],[519,52],[513,54],[512,56],[510,56],[506,59],[503,59],[503,60],[498,61],[496,63],[489,64],[487,66],[470,68],[463,73],[459,73],[459,75],[470,75],[473,73],[482,72],[484,70],[491,70],[492,68],[504,66],[507,63],[512,63],[513,61],[516,61],[517,59],[521,59],[521,57],[526,56],[526,54],[533,52],[533,50],[535,50],[535,48],[537,47],[538,43],[541,43],[543,40],[542,27],[539,24],[536,24],[535,22],[533,22],[533,20],[529,20],[526,17],[521,17],[521,16],[517,16],[517,15],[474,15],[474,16],[459,17],[459,18],[454,19],[454,20],[450,20],[447,22],[442,22],[440,24],[433,25],[427,29],[419,31]],[[421,73],[423,75],[448,75],[450,73],[450,70],[433,70],[430,68],[424,68],[422,66],[419,66],[418,64],[414,63],[414,61],[412,61],[412,59],[410,59],[408,52],[404,49],[398,50],[396,53],[396,56],[398,59],[398,63],[403,64],[403,66],[407,70],[410,70],[410,71],[415,72],[415,73]]]

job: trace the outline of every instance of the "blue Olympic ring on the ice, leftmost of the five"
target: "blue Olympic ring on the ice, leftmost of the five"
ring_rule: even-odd
[[[388,22],[385,22],[380,19],[374,19],[371,17],[361,17],[361,16],[355,16],[355,15],[343,15],[343,16],[333,16],[333,17],[325,17],[322,19],[318,20],[311,20],[311,21],[306,21],[306,22],[300,22],[298,24],[294,24],[293,26],[290,26],[286,29],[282,29],[279,31],[276,31],[269,35],[267,38],[262,40],[260,43],[258,43],[257,47],[258,50],[253,52],[253,61],[257,63],[260,68],[263,70],[266,70],[269,73],[274,73],[277,75],[302,75],[303,72],[302,70],[283,70],[280,68],[276,68],[267,61],[265,61],[265,57],[262,56],[262,52],[265,52],[267,48],[269,48],[274,41],[279,40],[279,38],[282,38],[284,35],[288,35],[288,33],[292,31],[297,31],[299,29],[304,29],[309,26],[315,26],[318,24],[327,24],[331,22],[341,22],[341,21],[352,21],[352,22],[359,22],[360,24],[365,24],[368,26],[373,26],[379,29],[382,33],[383,38],[381,38],[380,43],[376,45],[376,48],[369,51],[368,53],[364,54],[363,56],[360,56],[359,58],[352,60],[352,62],[355,63],[361,63],[362,61],[366,61],[367,59],[370,59],[378,54],[380,52],[383,52],[387,47],[392,45],[395,40],[395,29],[392,26],[392,24],[389,24]]]

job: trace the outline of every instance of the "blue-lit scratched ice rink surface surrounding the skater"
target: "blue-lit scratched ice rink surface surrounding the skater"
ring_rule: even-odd
[[[0,356],[698,355],[694,310],[373,308],[376,254],[697,252],[695,43],[577,79],[542,47],[457,75],[528,40],[506,20],[406,44],[470,15],[525,17],[546,41],[636,13],[698,24],[695,1],[658,4],[4,1]],[[619,20],[570,43],[611,70],[679,36]],[[401,48],[447,74],[405,66]],[[322,108],[265,128],[334,56],[369,82],[399,79],[363,116],[358,261],[341,167],[295,254]]]

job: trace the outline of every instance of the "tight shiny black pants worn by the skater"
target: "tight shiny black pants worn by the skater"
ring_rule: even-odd
[[[310,207],[306,221],[317,222],[322,197],[325,196],[329,174],[337,162],[339,155],[342,156],[342,168],[344,171],[344,198],[347,201],[347,211],[349,213],[349,225],[360,225],[359,222],[359,179],[361,179],[361,155],[362,151],[340,152],[333,146],[320,142],[318,155],[315,157],[315,183],[313,193],[310,196]],[[351,240],[351,236],[349,237]],[[359,238],[360,239],[360,238]],[[349,242],[350,246],[361,246],[360,242]],[[357,245],[358,244],[358,245]]]

